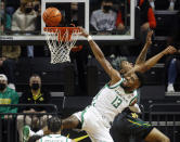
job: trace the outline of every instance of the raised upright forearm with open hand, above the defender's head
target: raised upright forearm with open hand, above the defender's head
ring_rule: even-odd
[[[136,61],[136,65],[145,62],[147,49],[152,44],[152,35],[153,35],[153,30],[149,30],[147,36],[146,36],[146,42],[145,42],[141,53],[139,54],[139,56]]]

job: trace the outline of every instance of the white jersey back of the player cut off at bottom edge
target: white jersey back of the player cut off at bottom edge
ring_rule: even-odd
[[[39,142],[72,142],[72,140],[61,134],[49,134],[42,137]]]

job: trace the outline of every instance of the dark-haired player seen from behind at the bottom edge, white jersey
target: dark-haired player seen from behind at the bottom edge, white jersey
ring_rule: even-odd
[[[28,142],[75,142],[72,139],[68,139],[64,135],[61,135],[61,118],[57,116],[53,116],[51,118],[48,119],[47,121],[48,124],[48,130],[49,130],[49,134],[38,138],[38,140],[36,140],[36,137],[34,139],[29,139]],[[24,127],[24,129],[26,129],[26,127]],[[29,129],[26,129],[27,131]],[[25,130],[24,130],[25,131]]]

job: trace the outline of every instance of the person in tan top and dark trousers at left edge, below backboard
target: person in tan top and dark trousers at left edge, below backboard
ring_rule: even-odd
[[[8,76],[9,87],[15,90],[15,68],[21,55],[21,48],[18,46],[2,46],[0,53],[0,73]]]

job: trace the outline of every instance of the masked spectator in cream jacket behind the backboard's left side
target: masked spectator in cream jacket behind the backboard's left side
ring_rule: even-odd
[[[38,12],[34,10],[33,2],[21,2],[21,7],[14,12],[12,18],[13,31],[35,31]],[[31,35],[30,33],[26,35]],[[34,46],[27,46],[27,56],[34,57]]]

